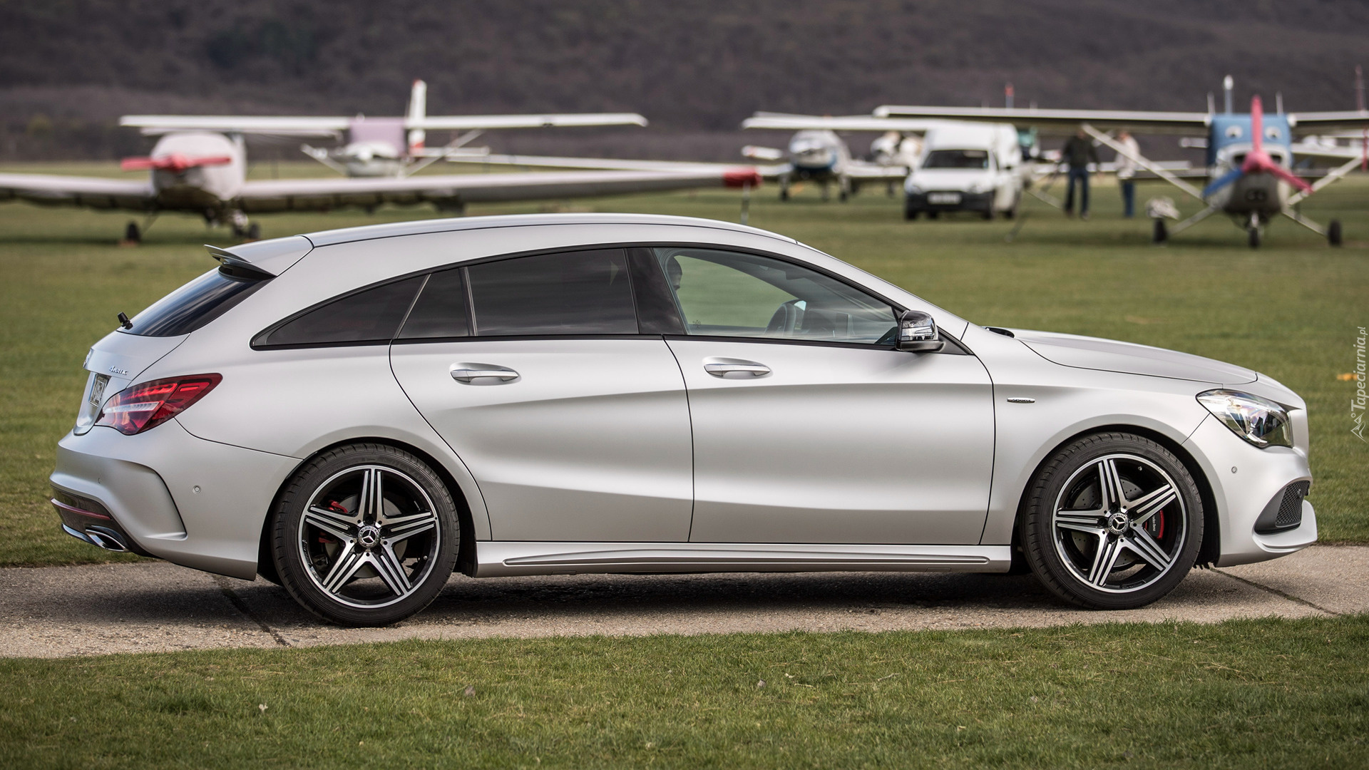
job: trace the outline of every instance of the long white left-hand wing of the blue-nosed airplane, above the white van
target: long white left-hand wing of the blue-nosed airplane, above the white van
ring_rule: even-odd
[[[879,118],[924,118],[1013,123],[1036,129],[1073,132],[1080,123],[1095,129],[1129,129],[1161,134],[1206,134],[1206,112],[1147,112],[1131,110],[1020,110],[1005,107],[912,107],[886,104]]]

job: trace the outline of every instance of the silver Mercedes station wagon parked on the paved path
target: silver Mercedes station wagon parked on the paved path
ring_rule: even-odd
[[[1279,382],[976,326],[773,233],[486,216],[211,252],[90,349],[52,504],[333,622],[453,570],[1019,566],[1131,608],[1317,538]]]

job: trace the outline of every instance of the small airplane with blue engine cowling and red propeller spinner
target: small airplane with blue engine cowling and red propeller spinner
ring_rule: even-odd
[[[1343,112],[1288,112],[1283,100],[1273,115],[1264,114],[1259,96],[1250,101],[1250,112],[1232,111],[1232,79],[1224,81],[1225,110],[1214,110],[1212,96],[1207,112],[1144,112],[1121,110],[1019,110],[995,107],[902,107],[884,105],[875,110],[878,116],[928,118],[951,121],[1009,122],[1042,130],[1079,130],[1131,158],[1142,169],[1175,185],[1203,204],[1203,210],[1168,227],[1162,216],[1155,216],[1153,240],[1164,243],[1169,237],[1202,222],[1213,214],[1225,214],[1246,232],[1250,245],[1258,247],[1265,226],[1276,216],[1287,216],[1303,227],[1340,245],[1342,226],[1332,219],[1321,226],[1303,216],[1295,207],[1307,196],[1343,178],[1362,164],[1358,153],[1350,158],[1347,148],[1317,149],[1306,142],[1298,151],[1307,158],[1320,158],[1342,164],[1321,173],[1314,184],[1294,174],[1295,136],[1316,136],[1327,132],[1362,129],[1369,126],[1369,111]],[[1112,136],[1099,129],[1128,129],[1138,133],[1188,134],[1205,137],[1186,141],[1187,147],[1207,149],[1206,169],[1172,170],[1139,153],[1131,153]],[[1199,178],[1207,184],[1197,188],[1187,181]]]

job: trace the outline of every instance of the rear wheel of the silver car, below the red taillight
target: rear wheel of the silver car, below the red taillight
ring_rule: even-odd
[[[367,492],[372,480],[378,500]],[[383,444],[348,444],[314,458],[286,485],[272,517],[281,585],[305,610],[342,626],[387,626],[423,610],[446,585],[460,549],[456,501],[441,477]]]

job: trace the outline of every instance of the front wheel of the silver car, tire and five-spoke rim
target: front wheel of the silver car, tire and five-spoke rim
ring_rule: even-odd
[[[1106,492],[1105,477],[1121,495]],[[1102,504],[1105,497],[1112,503]],[[1150,438],[1099,433],[1042,464],[1019,540],[1032,573],[1055,596],[1092,610],[1135,610],[1184,580],[1202,527],[1202,497],[1179,458]]]

